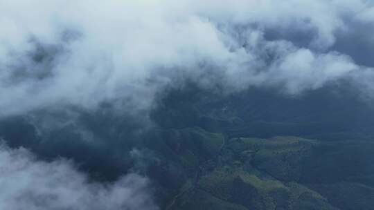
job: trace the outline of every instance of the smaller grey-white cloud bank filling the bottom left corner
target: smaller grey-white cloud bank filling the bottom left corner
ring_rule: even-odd
[[[112,184],[89,182],[70,162],[37,161],[26,149],[0,147],[0,209],[158,209],[148,180],[129,174]]]

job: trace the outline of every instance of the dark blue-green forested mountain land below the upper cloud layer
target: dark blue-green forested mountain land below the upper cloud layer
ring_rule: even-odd
[[[190,86],[160,97],[149,120],[70,107],[9,117],[0,136],[93,180],[145,175],[161,209],[373,209],[371,104],[329,88],[280,94]]]

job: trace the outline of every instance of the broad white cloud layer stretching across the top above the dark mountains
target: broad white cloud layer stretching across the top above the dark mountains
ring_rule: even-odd
[[[371,90],[373,11],[364,0],[0,1],[0,114],[146,110],[184,79],[295,94],[348,77]]]

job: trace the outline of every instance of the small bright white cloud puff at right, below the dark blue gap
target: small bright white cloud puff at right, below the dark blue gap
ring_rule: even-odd
[[[321,88],[323,84],[346,77],[355,70],[359,70],[359,66],[347,56],[339,53],[316,54],[302,48],[276,61],[269,74],[278,76],[270,76],[269,80],[285,82],[290,93],[299,93],[308,88]]]

